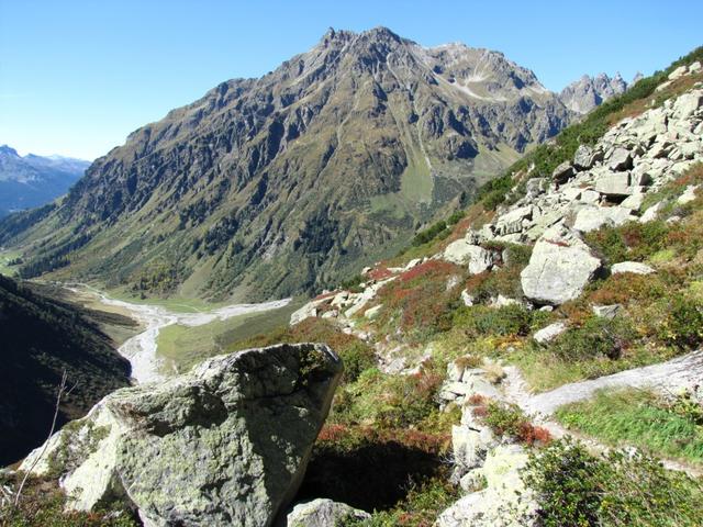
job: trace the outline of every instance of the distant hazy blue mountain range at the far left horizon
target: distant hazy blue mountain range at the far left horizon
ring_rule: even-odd
[[[0,216],[65,194],[89,165],[69,157],[22,157],[14,148],[0,146]]]

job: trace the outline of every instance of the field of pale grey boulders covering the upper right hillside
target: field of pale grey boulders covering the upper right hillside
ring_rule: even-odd
[[[694,88],[660,108],[624,119],[595,145],[581,145],[572,160],[556,167],[551,184],[545,178],[528,180],[524,195],[500,208],[481,228],[478,243],[525,244],[555,225],[587,233],[656,218],[663,204],[641,211],[645,197],[703,161],[702,106],[703,89]],[[679,204],[696,195],[691,186]]]

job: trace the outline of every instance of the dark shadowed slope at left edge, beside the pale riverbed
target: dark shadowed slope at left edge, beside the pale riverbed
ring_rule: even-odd
[[[104,316],[130,324],[118,315]],[[57,426],[129,384],[130,363],[94,317],[1,276],[0,335],[1,464],[16,461],[46,438],[64,371],[67,390],[72,390],[63,397]]]

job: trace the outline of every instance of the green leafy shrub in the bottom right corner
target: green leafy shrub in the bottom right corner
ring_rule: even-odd
[[[531,453],[523,481],[544,527],[703,525],[701,483],[640,453],[594,457],[579,442],[553,441]]]

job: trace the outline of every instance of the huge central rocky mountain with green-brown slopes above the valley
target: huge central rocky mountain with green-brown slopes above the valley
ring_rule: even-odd
[[[24,244],[25,277],[68,266],[57,276],[147,294],[312,291],[398,250],[570,115],[500,53],[331,30],[137,130],[0,240]]]

